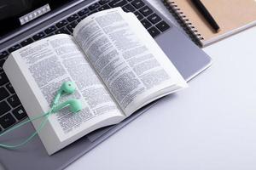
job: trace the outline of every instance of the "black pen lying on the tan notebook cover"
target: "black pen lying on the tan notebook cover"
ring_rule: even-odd
[[[191,0],[191,2],[195,5],[195,8],[199,10],[199,12],[203,15],[203,17],[207,20],[207,22],[212,26],[214,31],[220,31],[220,28],[217,22],[213,19],[212,15],[209,13],[207,8],[201,3],[200,0]]]

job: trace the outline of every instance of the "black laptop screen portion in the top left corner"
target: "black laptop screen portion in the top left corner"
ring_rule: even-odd
[[[0,0],[0,37],[72,0]]]

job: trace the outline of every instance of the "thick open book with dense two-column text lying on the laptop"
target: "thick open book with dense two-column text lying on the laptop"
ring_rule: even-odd
[[[134,14],[113,8],[91,14],[73,31],[20,48],[3,65],[29,117],[49,111],[62,82],[76,83],[76,114],[49,116],[38,133],[49,155],[97,128],[116,124],[187,83]],[[41,120],[33,123],[38,128]]]

